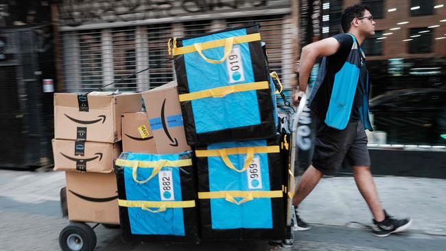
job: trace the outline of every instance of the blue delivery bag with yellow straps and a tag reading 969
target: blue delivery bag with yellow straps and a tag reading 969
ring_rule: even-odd
[[[202,239],[285,238],[279,148],[277,139],[197,147]]]

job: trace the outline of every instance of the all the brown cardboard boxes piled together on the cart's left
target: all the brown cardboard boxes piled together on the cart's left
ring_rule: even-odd
[[[122,152],[174,154],[186,143],[176,82],[142,93],[54,95],[54,170],[66,171],[71,221],[119,224],[113,161]],[[122,140],[122,143],[121,143]]]

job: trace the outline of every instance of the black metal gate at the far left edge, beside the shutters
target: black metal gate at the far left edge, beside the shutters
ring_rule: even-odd
[[[53,93],[42,88],[44,78],[56,78],[48,36],[49,26],[0,33],[0,167],[30,169],[52,163]]]

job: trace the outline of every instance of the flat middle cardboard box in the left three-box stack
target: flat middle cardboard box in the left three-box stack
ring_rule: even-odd
[[[53,139],[54,170],[110,173],[121,153],[120,143]]]

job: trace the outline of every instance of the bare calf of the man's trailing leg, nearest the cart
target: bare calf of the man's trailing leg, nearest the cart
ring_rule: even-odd
[[[296,188],[296,193],[293,196],[293,206],[297,207],[301,204],[303,199],[313,191],[316,184],[318,184],[320,178],[324,176],[318,169],[310,165],[307,170],[303,173],[301,180]]]

